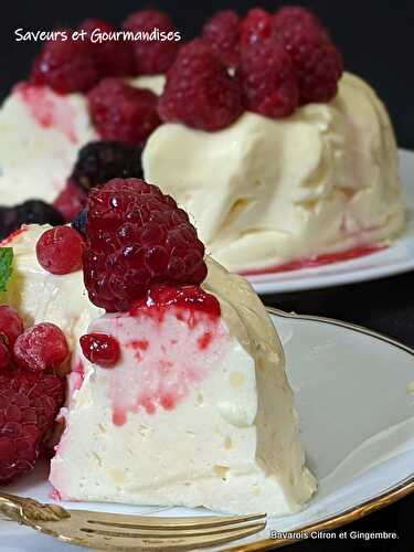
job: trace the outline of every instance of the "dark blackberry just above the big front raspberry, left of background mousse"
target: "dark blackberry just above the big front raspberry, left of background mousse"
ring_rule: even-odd
[[[71,178],[85,192],[113,178],[142,178],[141,152],[139,146],[92,141],[79,150]]]

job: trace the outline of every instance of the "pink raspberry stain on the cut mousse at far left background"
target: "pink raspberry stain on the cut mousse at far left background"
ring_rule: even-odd
[[[20,96],[39,126],[55,128],[72,144],[77,144],[73,124],[76,114],[65,96],[54,94],[46,86],[34,86],[29,83],[19,83],[13,92]]]

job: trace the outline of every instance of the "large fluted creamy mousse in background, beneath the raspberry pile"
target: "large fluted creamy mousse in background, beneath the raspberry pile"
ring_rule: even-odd
[[[331,103],[286,119],[245,113],[216,132],[161,125],[142,162],[231,270],[383,244],[404,226],[388,113],[348,73]]]

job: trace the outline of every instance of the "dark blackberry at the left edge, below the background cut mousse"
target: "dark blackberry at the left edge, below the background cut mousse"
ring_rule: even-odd
[[[51,224],[57,226],[65,221],[52,205],[41,200],[28,200],[20,205],[0,206],[0,237],[19,230],[22,224]]]

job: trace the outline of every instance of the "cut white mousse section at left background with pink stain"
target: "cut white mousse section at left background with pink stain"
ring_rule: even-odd
[[[162,91],[162,75],[129,81]],[[56,94],[21,83],[0,109],[0,193],[2,205],[29,199],[52,203],[72,172],[78,150],[98,140],[84,94]]]

